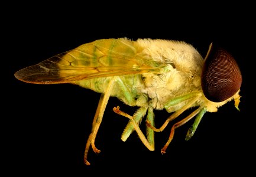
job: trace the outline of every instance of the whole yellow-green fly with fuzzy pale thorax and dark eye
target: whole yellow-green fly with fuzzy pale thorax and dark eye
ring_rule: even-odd
[[[128,106],[138,106],[129,115],[119,106],[114,112],[129,119],[121,139],[127,140],[137,132],[142,143],[154,150],[154,133],[163,131],[167,124],[185,110],[195,107],[189,116],[174,123],[170,136],[161,149],[165,153],[174,136],[174,130],[196,116],[186,140],[195,133],[206,112],[217,112],[218,107],[234,100],[240,102],[241,71],[228,51],[210,44],[206,57],[184,41],[128,38],[103,39],[80,45],[41,63],[15,73],[18,80],[33,84],[71,83],[101,93],[92,123],[92,132],[85,147],[84,160],[88,161],[90,147],[102,122],[109,97],[117,97]],[[154,110],[170,113],[166,122],[154,126]],[[239,109],[238,109],[239,110]],[[140,129],[145,117],[146,133]]]

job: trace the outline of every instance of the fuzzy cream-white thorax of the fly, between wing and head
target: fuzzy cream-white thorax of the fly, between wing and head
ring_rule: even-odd
[[[144,48],[142,52],[145,55],[157,63],[170,65],[170,71],[163,74],[142,74],[145,83],[143,92],[152,99],[154,109],[163,109],[166,101],[174,97],[201,90],[203,57],[192,45],[182,41],[150,39],[137,42]]]

